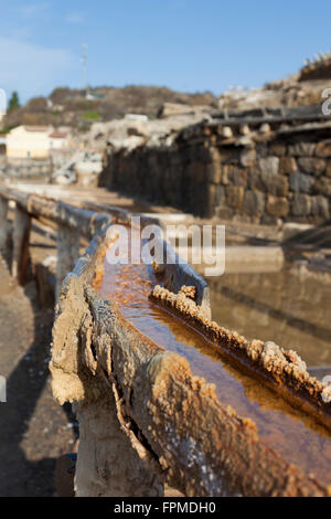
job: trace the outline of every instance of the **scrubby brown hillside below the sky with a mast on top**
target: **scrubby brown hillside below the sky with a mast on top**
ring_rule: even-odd
[[[126,86],[74,91],[55,88],[49,98],[34,97],[25,106],[7,114],[3,127],[18,125],[73,126],[88,129],[92,123],[121,118],[125,114],[158,115],[163,103],[183,103],[191,106],[217,107],[217,98],[210,92],[186,94],[159,86]]]

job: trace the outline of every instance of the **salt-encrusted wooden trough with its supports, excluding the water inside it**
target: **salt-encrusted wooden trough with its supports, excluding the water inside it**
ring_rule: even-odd
[[[9,200],[28,222],[56,223],[58,262],[64,261],[58,282],[73,268],[81,236],[94,236],[63,283],[50,363],[55,398],[74,402],[79,419],[76,495],[157,496],[167,481],[188,496],[330,496],[328,478],[270,448],[254,421],[221,403],[213,384],[196,377],[186,359],[142,335],[111,294],[105,299],[93,288],[104,268],[107,229],[116,220],[129,223],[129,213],[114,219],[1,188],[1,240]],[[20,218],[14,225],[22,227]],[[24,225],[24,232],[14,231],[17,261],[29,243]],[[166,265],[160,283],[151,294],[154,301],[300,409],[296,420],[313,422],[312,430],[328,436],[330,390],[309,377],[295,352],[249,342],[212,322],[207,285],[190,266]]]

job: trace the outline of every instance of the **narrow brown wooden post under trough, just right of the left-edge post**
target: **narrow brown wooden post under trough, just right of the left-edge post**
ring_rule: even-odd
[[[17,205],[14,214],[11,274],[20,285],[24,285],[26,280],[30,230],[30,215],[20,205]]]

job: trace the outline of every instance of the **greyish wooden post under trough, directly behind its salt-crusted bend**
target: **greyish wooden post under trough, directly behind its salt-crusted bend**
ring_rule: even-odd
[[[62,282],[71,272],[79,257],[79,233],[72,229],[58,225],[57,227],[57,265],[55,298],[61,294]]]

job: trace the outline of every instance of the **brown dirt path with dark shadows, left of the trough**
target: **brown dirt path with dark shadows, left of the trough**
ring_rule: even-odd
[[[70,411],[49,384],[53,310],[38,308],[34,284],[18,287],[2,261],[0,278],[0,496],[52,496],[55,459],[74,441]]]

